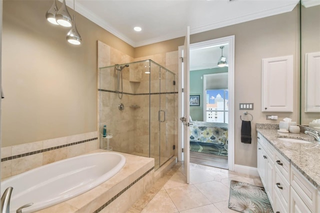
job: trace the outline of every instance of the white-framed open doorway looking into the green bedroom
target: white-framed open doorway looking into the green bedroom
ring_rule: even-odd
[[[190,162],[233,170],[234,36],[193,43],[189,50],[190,96],[183,101],[190,104]]]

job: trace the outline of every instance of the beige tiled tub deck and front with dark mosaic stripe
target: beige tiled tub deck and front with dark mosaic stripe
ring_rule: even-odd
[[[100,151],[104,150],[97,149],[90,153]],[[154,159],[121,154],[126,162],[113,177],[76,197],[36,212],[125,212],[152,187]]]

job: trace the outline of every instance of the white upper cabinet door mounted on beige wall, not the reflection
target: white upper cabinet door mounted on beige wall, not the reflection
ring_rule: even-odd
[[[293,55],[262,59],[262,111],[293,111]]]

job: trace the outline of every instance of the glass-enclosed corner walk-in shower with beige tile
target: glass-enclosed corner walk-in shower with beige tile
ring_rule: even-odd
[[[113,151],[153,157],[155,169],[166,162],[174,155],[174,87],[175,74],[152,60],[100,67],[100,148],[108,142]]]

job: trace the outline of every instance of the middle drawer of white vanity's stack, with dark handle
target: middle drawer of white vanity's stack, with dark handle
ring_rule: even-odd
[[[281,174],[279,169],[275,167],[274,169],[274,192],[280,198],[285,209],[289,209],[289,200],[290,200],[290,184],[288,180]]]

